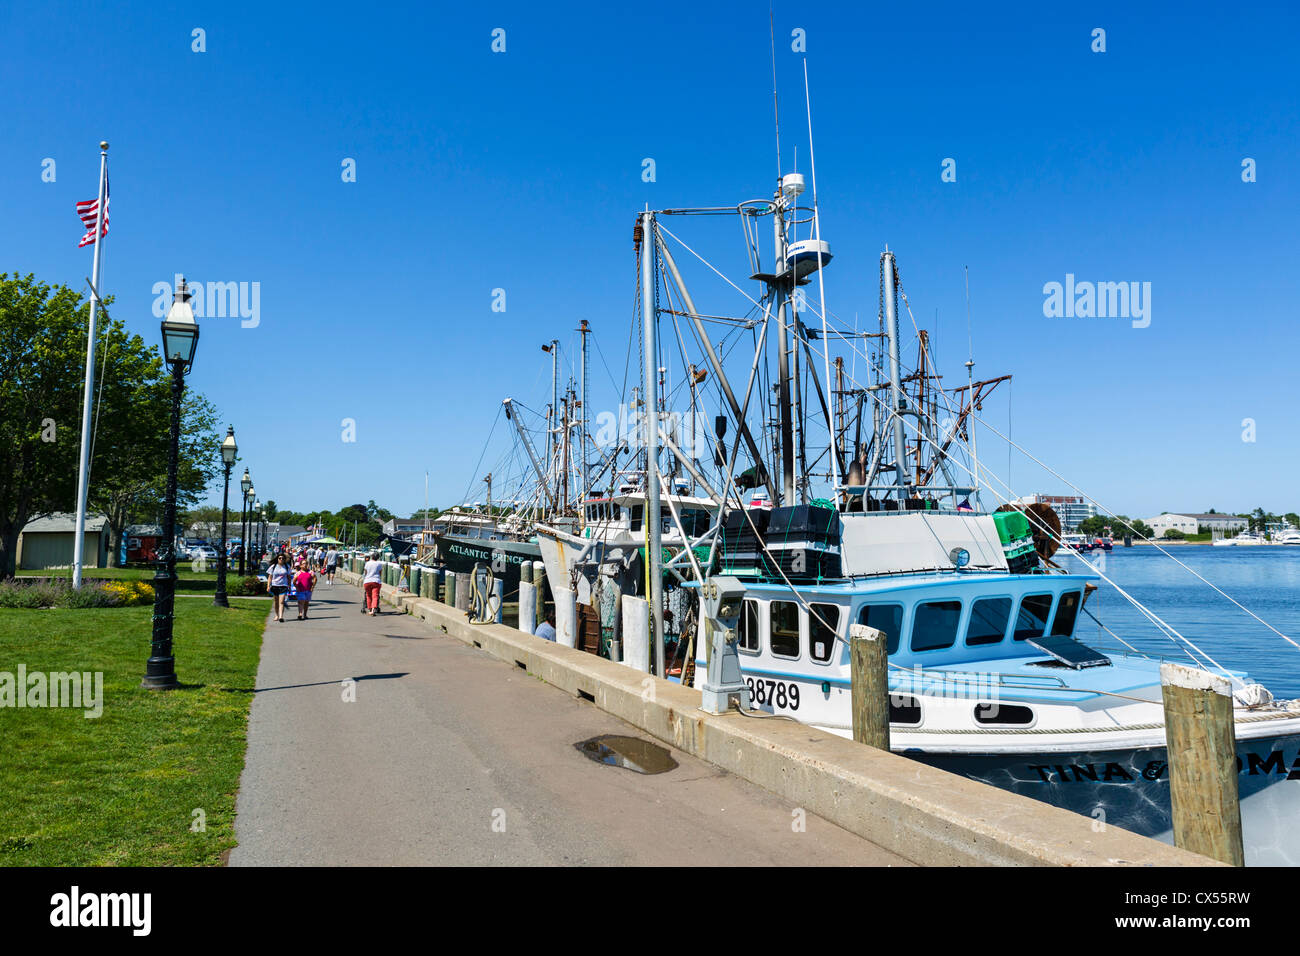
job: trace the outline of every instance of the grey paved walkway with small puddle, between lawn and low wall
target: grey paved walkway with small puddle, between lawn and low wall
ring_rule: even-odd
[[[818,817],[796,832],[794,808],[679,750],[656,775],[595,763],[573,744],[646,735],[360,614],[359,588],[316,596],[307,622],[268,618],[231,865],[905,865]]]

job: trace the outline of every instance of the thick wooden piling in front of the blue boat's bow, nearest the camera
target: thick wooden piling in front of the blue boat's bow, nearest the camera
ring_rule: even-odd
[[[1174,844],[1244,866],[1231,684],[1180,663],[1162,663],[1160,682]]]

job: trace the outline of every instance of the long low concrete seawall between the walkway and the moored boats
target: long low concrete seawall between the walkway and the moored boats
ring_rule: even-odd
[[[359,583],[360,576],[341,572]],[[515,663],[673,747],[757,783],[900,856],[928,866],[1216,866],[1216,861],[863,747],[792,721],[715,717],[699,692],[525,635],[471,624],[439,601],[382,587],[430,627]]]

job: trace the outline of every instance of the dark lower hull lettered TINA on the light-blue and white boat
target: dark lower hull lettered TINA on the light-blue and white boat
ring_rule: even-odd
[[[1174,842],[1164,747],[1043,754],[904,756],[972,780]],[[1247,866],[1300,866],[1300,735],[1238,740]]]

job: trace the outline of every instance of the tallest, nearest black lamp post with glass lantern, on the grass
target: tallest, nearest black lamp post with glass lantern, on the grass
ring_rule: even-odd
[[[153,644],[144,667],[143,687],[169,691],[179,687],[172,657],[172,624],[176,610],[176,470],[181,447],[181,395],[185,373],[194,365],[199,324],[190,308],[185,280],[177,287],[172,308],[162,320],[162,360],[172,367],[172,445],[166,462],[166,506],[162,512],[162,549],[153,572]]]

